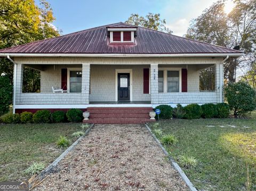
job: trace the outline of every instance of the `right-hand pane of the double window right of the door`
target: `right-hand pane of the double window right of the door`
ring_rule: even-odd
[[[179,92],[179,71],[167,71],[167,92]]]

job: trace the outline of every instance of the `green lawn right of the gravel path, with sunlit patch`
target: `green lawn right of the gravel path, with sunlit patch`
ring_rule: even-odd
[[[181,167],[196,188],[256,190],[256,119],[174,119],[160,121],[159,127],[178,138],[165,146],[175,160],[180,155],[197,160],[195,167]]]

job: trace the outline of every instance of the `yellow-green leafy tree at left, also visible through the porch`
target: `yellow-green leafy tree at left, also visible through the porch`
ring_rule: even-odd
[[[0,48],[59,36],[51,24],[55,18],[50,4],[45,0],[39,2],[38,6],[34,0],[0,0]],[[13,80],[13,64],[9,60],[0,60],[1,73]],[[37,87],[38,72],[27,69],[24,76],[31,84],[30,89]]]

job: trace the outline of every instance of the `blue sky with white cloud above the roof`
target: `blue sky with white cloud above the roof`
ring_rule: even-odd
[[[197,18],[203,10],[217,0],[47,0],[56,20],[53,25],[62,30],[62,35],[125,22],[132,13],[145,16],[160,13],[174,35],[186,34],[189,21]]]

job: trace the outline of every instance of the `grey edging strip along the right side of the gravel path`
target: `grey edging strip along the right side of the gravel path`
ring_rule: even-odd
[[[175,170],[177,170],[181,176],[181,178],[185,181],[186,185],[189,187],[191,191],[197,191],[197,189],[194,187],[192,182],[188,179],[184,171],[180,168],[179,164],[174,161],[174,159],[169,155],[169,153],[165,150],[163,145],[159,142],[158,138],[153,134],[151,129],[148,127],[148,125],[145,123],[146,128],[150,132],[151,136],[156,140],[156,143],[158,144],[159,147],[162,148],[164,154],[169,157],[170,162],[172,163],[172,166]]]

